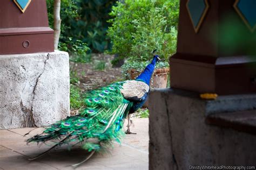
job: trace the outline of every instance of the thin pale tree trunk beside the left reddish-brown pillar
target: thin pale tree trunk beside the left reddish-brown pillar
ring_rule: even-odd
[[[62,22],[62,20],[60,19],[60,0],[54,1],[53,19],[54,19],[54,49],[58,49],[59,36],[60,36],[60,23]]]

